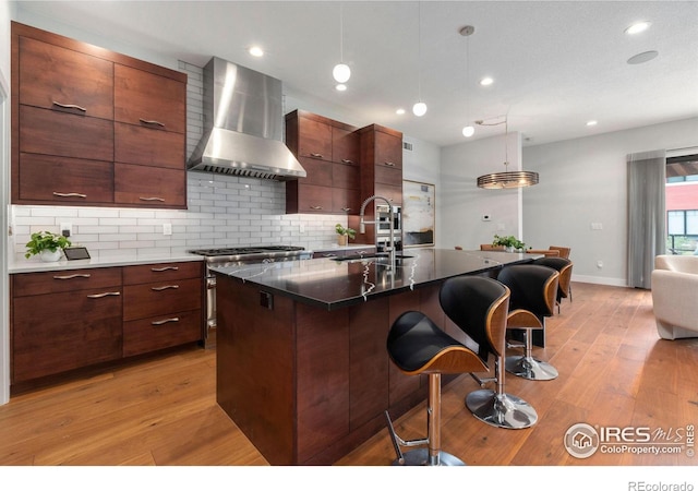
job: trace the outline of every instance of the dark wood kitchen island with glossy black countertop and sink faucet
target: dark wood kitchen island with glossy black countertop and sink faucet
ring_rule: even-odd
[[[442,283],[535,258],[402,254],[213,268],[217,402],[272,465],[332,464],[385,428],[386,409],[397,418],[424,400],[426,378],[389,362],[393,321],[421,310],[466,342],[441,310]]]

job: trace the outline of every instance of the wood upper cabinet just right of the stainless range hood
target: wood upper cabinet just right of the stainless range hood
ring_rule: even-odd
[[[286,182],[286,213],[359,213],[356,128],[296,110],[286,115],[286,144],[308,177]]]

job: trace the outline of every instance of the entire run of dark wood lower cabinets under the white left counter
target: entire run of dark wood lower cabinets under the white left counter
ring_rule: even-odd
[[[201,261],[10,278],[13,387],[204,338]]]

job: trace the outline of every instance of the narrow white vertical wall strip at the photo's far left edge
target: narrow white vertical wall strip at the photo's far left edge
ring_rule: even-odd
[[[10,181],[10,19],[14,3],[0,1],[0,404],[10,400],[10,334],[8,282],[8,203]]]

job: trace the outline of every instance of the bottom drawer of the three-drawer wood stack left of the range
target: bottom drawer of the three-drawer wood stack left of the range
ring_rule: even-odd
[[[123,356],[193,343],[202,338],[201,310],[123,323]]]

